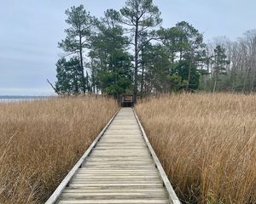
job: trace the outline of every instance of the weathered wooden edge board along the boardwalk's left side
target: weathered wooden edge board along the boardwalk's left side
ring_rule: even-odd
[[[102,132],[98,134],[96,139],[90,144],[90,147],[84,152],[84,155],[79,159],[79,161],[75,164],[75,166],[71,169],[69,173],[67,173],[67,176],[62,180],[61,184],[56,188],[54,193],[49,197],[49,199],[45,202],[45,204],[54,204],[56,201],[58,201],[58,198],[60,197],[62,191],[66,188],[70,180],[73,178],[73,176],[77,173],[79,168],[84,163],[85,159],[90,156],[91,150],[96,146],[96,143],[102,138],[102,135],[106,132],[111,122],[113,122],[113,119],[117,114],[119,113],[120,109],[115,112],[113,117],[110,119],[108,124],[102,129]]]

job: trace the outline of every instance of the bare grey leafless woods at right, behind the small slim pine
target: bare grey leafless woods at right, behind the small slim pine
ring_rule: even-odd
[[[246,31],[243,37],[231,42],[227,37],[218,37],[207,44],[207,57],[212,56],[214,48],[224,50],[226,61],[218,76],[218,90],[252,93],[256,90],[256,30]],[[209,61],[207,77],[201,77],[201,88],[212,90],[215,66]]]

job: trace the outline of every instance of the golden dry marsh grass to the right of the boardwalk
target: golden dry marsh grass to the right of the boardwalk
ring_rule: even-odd
[[[136,110],[183,203],[256,203],[256,95],[164,95]]]

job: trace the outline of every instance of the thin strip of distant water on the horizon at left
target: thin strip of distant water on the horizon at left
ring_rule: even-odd
[[[0,95],[0,103],[34,101],[37,99],[49,99],[49,96],[18,96],[18,95]]]

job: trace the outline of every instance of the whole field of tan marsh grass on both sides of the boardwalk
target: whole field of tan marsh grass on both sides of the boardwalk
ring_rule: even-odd
[[[256,95],[170,94],[135,108],[183,203],[256,203]],[[117,110],[102,97],[0,103],[0,203],[44,203]]]

